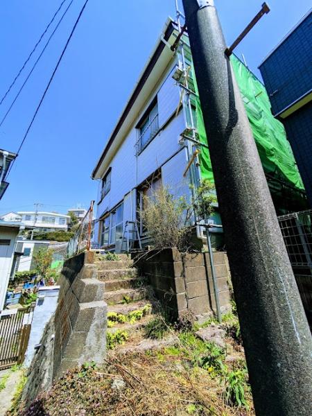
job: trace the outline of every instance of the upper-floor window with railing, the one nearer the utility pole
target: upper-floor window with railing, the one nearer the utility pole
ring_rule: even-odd
[[[138,152],[141,152],[150,143],[150,141],[153,140],[159,130],[157,101],[154,101],[151,107],[148,109],[148,114],[144,115],[144,118],[139,123],[138,128]]]

